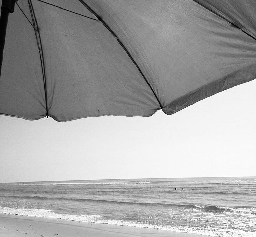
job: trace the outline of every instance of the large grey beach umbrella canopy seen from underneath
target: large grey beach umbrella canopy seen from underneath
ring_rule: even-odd
[[[1,3],[3,115],[170,115],[256,77],[255,0]]]

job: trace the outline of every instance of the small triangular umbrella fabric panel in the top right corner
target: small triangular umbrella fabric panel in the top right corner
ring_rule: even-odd
[[[255,0],[196,0],[256,38]]]

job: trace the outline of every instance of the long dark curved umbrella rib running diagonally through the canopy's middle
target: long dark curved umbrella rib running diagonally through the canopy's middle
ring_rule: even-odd
[[[122,46],[122,48],[128,54],[128,56],[130,57],[131,61],[137,67],[137,69],[139,70],[140,74],[142,75],[142,77],[146,81],[147,85],[150,87],[151,91],[153,92],[154,96],[156,97],[156,99],[157,99],[157,101],[158,101],[158,103],[160,105],[160,108],[163,109],[163,106],[162,106],[161,102],[159,101],[155,91],[153,90],[152,86],[150,85],[150,83],[148,82],[148,80],[144,76],[143,72],[141,71],[140,67],[135,62],[135,60],[132,58],[131,54],[129,53],[127,48],[124,46],[124,44],[120,41],[120,39],[116,36],[116,34],[111,30],[111,28],[106,24],[106,22],[103,19],[101,19],[100,16],[93,9],[91,9],[83,0],[78,0],[78,1],[81,2],[91,13],[93,13],[98,18],[98,20],[109,30],[109,32],[117,39],[117,42]]]

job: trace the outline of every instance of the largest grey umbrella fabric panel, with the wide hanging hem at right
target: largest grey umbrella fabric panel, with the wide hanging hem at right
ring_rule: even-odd
[[[256,77],[256,41],[192,0],[84,2],[126,46],[167,114]]]

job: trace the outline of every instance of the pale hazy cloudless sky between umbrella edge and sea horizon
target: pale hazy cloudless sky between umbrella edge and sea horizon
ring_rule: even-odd
[[[255,104],[256,80],[169,116],[0,115],[0,182],[256,176]]]

